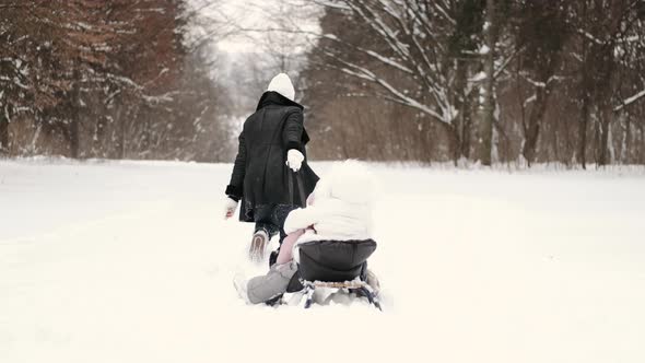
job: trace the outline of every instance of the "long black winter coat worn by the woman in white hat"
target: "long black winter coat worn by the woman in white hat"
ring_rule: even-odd
[[[303,106],[278,92],[265,92],[255,114],[244,122],[226,195],[242,198],[239,220],[254,222],[258,209],[275,204],[305,207],[318,176],[306,162],[309,141]],[[286,166],[286,152],[305,155],[301,169]]]

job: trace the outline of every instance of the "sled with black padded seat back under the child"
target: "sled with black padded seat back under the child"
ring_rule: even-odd
[[[315,241],[298,246],[298,279],[304,286],[304,307],[309,308],[316,289],[337,289],[365,296],[379,311],[380,303],[372,286],[365,282],[367,258],[376,242]]]

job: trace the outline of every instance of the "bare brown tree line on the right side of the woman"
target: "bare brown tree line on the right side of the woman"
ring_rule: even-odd
[[[315,2],[317,157],[645,163],[642,0]]]

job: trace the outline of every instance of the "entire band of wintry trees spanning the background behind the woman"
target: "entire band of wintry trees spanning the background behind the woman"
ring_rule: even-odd
[[[218,0],[0,0],[0,155],[230,161],[285,71],[315,160],[645,164],[642,0],[260,5],[223,66]]]

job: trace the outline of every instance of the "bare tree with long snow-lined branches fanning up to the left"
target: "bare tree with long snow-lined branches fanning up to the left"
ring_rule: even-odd
[[[486,51],[485,1],[337,0],[319,3],[328,13],[337,12],[351,19],[362,36],[348,39],[344,28],[326,30],[318,48],[327,60],[318,62],[371,84],[372,93],[382,99],[415,110],[420,129],[441,129],[436,132],[446,134],[431,139],[447,142],[452,159],[468,157],[476,132],[472,118],[481,118],[476,113],[476,104],[478,91],[485,89],[483,60],[494,57],[489,62],[492,65],[490,81],[494,83],[514,55],[512,48]],[[497,15],[492,14],[491,19]],[[493,28],[491,26],[489,40],[496,42]],[[483,154],[490,155],[490,143],[484,148],[488,152]],[[490,156],[488,160],[490,163]]]

